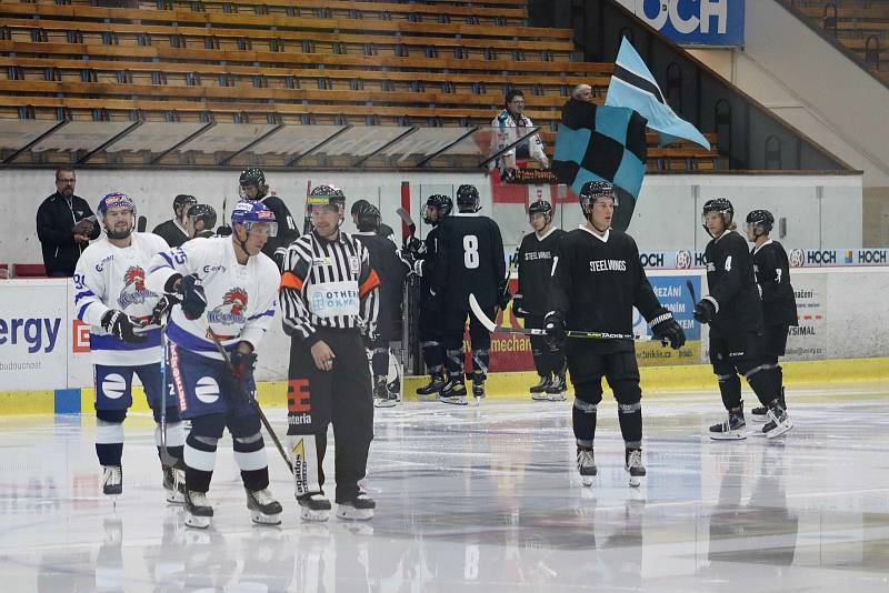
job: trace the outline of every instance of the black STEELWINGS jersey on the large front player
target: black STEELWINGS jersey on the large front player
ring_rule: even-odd
[[[646,320],[667,313],[648,282],[632,237],[609,229],[605,237],[586,227],[566,233],[552,265],[550,310],[565,315],[568,330],[632,333],[632,308]],[[599,352],[632,350],[629,340],[590,343]]]

